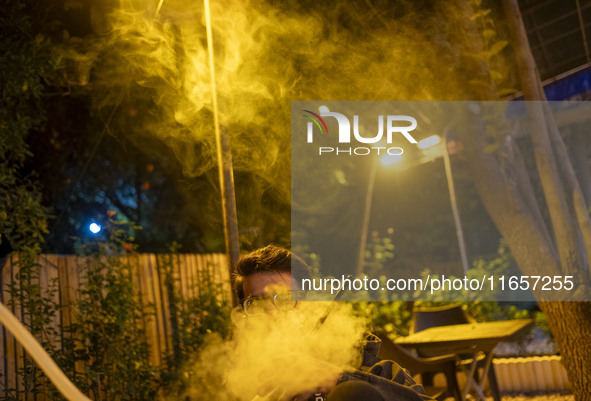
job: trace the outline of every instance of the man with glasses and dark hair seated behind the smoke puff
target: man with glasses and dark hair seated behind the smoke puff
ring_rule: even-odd
[[[247,315],[257,307],[270,308],[267,310],[289,309],[293,304],[288,300],[280,300],[278,295],[269,292],[275,292],[277,286],[284,286],[288,291],[291,288],[292,277],[296,283],[301,282],[303,278],[309,278],[308,266],[287,249],[269,245],[240,258],[236,266],[234,291]],[[364,345],[363,362],[359,369],[353,372],[342,372],[330,383],[297,395],[290,395],[288,399],[297,401],[431,400],[425,395],[422,386],[416,384],[396,362],[383,361],[377,357],[379,347],[379,339],[369,336]]]

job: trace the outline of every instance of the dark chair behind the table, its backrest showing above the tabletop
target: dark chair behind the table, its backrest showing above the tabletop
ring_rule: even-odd
[[[475,320],[470,316],[460,304],[446,305],[442,307],[417,307],[413,308],[410,322],[410,334],[426,330],[430,327],[449,326],[454,324],[474,323]],[[434,357],[432,353],[425,353],[417,350],[421,357]],[[478,361],[478,367],[484,366],[485,358]],[[458,363],[468,364],[472,362],[472,355],[459,355]],[[475,379],[478,380],[478,371],[474,373]],[[425,378],[427,384],[432,383],[432,377]],[[488,370],[488,383],[494,401],[501,401],[499,394],[499,385],[497,383],[497,375],[495,374],[494,364],[490,365]]]

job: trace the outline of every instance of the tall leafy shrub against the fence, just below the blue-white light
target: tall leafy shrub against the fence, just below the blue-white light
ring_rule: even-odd
[[[156,396],[159,368],[149,361],[142,322],[153,316],[136,298],[129,231],[137,227],[112,222],[109,240],[82,247],[83,266],[75,322],[66,328],[64,366],[70,377],[94,399],[147,400]],[[75,369],[84,361],[85,371]]]

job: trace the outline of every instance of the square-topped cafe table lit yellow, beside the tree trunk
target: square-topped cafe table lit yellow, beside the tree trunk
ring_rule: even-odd
[[[466,323],[431,327],[407,337],[398,337],[396,343],[406,348],[414,348],[421,354],[455,354],[460,366],[467,375],[462,388],[462,400],[473,389],[477,399],[485,400],[483,385],[492,364],[493,348],[503,341],[514,341],[527,334],[533,326],[532,319],[501,320],[496,322]],[[469,366],[460,363],[471,355]],[[482,376],[474,378],[479,358],[484,355]]]

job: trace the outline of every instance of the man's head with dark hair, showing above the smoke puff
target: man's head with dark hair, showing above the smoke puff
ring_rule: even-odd
[[[240,258],[234,275],[234,292],[239,300],[249,296],[269,295],[265,288],[285,285],[290,288],[291,279],[301,283],[310,277],[310,269],[304,261],[277,245],[268,245]]]

